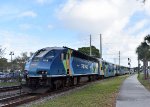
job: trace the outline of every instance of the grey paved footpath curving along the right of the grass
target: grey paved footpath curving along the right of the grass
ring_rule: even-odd
[[[150,92],[138,81],[137,74],[122,84],[116,107],[150,107]]]

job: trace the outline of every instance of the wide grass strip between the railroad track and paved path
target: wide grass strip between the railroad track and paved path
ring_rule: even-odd
[[[115,107],[120,85],[127,76],[110,78],[33,107]]]

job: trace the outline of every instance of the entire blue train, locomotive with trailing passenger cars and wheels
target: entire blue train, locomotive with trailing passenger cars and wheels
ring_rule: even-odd
[[[127,72],[127,67],[120,67],[68,47],[47,47],[35,52],[26,62],[24,90],[44,93],[77,85],[84,80],[92,81]]]

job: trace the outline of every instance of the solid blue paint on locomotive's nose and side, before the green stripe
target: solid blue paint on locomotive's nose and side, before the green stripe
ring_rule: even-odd
[[[38,54],[39,51],[36,52],[26,63],[25,70],[28,71],[28,76],[41,77],[42,72],[47,72],[47,76],[65,74],[66,72],[59,56],[62,49],[44,48],[43,50],[45,50],[44,53]]]

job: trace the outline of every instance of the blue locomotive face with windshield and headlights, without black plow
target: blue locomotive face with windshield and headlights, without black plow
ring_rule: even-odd
[[[29,77],[42,77],[48,74],[55,57],[54,50],[41,49],[27,62],[26,72]]]

